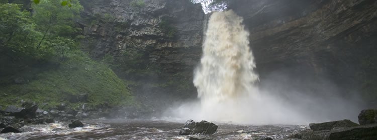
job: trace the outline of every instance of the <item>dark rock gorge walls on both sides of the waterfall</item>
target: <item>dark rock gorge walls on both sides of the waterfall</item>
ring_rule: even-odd
[[[109,61],[140,99],[171,105],[177,98],[196,97],[192,76],[202,54],[206,19],[200,4],[189,0],[81,0],[81,4],[85,50]],[[369,105],[377,104],[376,1],[236,0],[228,9],[242,16],[250,31],[262,84],[276,73],[295,81],[293,87],[326,81],[321,84],[340,87],[344,96],[360,93]]]

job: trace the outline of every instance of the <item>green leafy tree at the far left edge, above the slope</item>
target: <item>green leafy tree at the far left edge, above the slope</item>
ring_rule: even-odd
[[[22,5],[0,4],[0,52],[12,59],[30,56],[43,57],[35,46],[42,34],[35,30],[28,11]]]

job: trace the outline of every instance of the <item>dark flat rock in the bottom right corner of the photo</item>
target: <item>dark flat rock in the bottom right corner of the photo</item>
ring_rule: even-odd
[[[332,131],[328,139],[377,139],[377,125],[365,125]]]

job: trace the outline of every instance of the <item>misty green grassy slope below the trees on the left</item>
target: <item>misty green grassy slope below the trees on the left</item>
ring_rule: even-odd
[[[52,108],[61,102],[77,108],[85,102],[89,107],[98,105],[135,105],[127,85],[102,63],[91,60],[81,51],[71,53],[59,67],[33,75],[27,84],[0,86],[0,105],[20,104],[20,100],[33,100],[42,108]],[[87,94],[86,101],[68,102],[67,98]]]

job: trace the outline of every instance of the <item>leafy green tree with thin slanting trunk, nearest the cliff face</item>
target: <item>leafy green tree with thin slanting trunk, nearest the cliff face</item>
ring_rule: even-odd
[[[74,21],[79,18],[83,8],[78,0],[69,1],[69,7],[62,7],[62,5],[67,5],[64,2],[66,1],[44,0],[32,6],[33,19],[38,25],[37,30],[43,33],[37,48],[41,47],[47,35],[50,37],[49,40],[52,40],[57,36],[74,39],[80,34],[80,29],[75,28]]]

